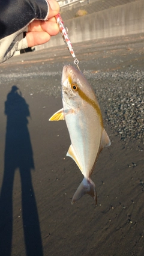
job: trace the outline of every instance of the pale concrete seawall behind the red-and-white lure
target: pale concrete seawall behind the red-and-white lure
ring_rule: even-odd
[[[64,22],[71,43],[144,32],[144,0],[119,5]],[[61,34],[36,50],[64,44]]]

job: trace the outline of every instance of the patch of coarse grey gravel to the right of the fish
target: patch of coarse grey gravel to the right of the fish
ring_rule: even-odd
[[[104,109],[104,123],[121,139],[139,139],[144,144],[144,72],[86,72],[98,102]]]

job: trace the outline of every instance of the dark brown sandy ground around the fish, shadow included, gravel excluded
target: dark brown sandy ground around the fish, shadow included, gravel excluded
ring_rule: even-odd
[[[143,41],[144,35],[131,35],[74,49],[82,70],[143,70]],[[144,146],[136,139],[123,141],[108,126],[107,100],[101,109],[112,145],[92,174],[98,205],[88,195],[71,205],[83,176],[65,156],[70,146],[65,121],[48,120],[62,108],[62,67],[72,62],[61,46],[0,65],[1,256],[144,254]]]

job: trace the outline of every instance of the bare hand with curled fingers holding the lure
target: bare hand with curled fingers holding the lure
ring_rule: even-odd
[[[56,0],[47,0],[47,2],[49,3],[48,19],[34,20],[28,26],[28,32],[26,32],[28,47],[46,43],[52,35],[57,35],[59,32],[55,19],[56,14],[59,13],[59,4]]]

